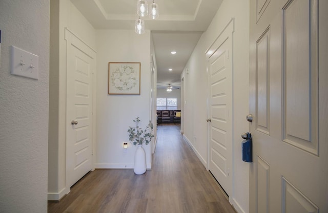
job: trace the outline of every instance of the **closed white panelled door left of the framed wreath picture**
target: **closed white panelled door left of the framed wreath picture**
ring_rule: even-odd
[[[67,183],[72,186],[92,169],[93,72],[95,53],[66,31]]]

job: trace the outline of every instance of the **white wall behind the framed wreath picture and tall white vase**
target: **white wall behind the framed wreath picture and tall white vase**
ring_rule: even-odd
[[[150,120],[150,31],[97,30],[96,168],[133,168],[135,148],[127,133],[139,116],[140,126]],[[108,95],[108,62],[141,62],[140,95]],[[123,143],[128,142],[127,153]],[[146,151],[151,168],[150,145]]]

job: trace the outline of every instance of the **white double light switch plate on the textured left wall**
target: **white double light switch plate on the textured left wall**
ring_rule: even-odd
[[[38,79],[39,56],[11,46],[11,74]]]

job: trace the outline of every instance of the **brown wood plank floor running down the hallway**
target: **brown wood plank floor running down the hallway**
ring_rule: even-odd
[[[180,134],[161,124],[152,170],[95,170],[48,212],[235,212]]]

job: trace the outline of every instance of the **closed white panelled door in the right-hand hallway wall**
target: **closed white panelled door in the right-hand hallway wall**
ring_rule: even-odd
[[[206,52],[211,118],[209,170],[228,195],[232,191],[232,32],[233,22]]]

